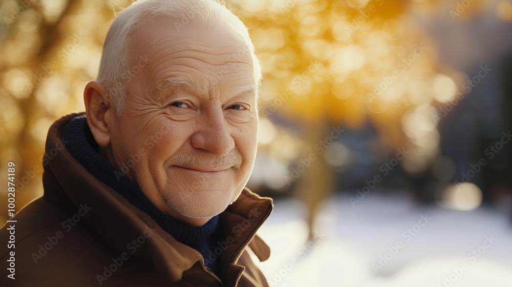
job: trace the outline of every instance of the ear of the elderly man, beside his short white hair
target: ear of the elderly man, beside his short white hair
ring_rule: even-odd
[[[83,91],[83,101],[86,105],[87,124],[98,145],[104,148],[110,144],[114,116],[110,96],[101,84],[90,81]]]

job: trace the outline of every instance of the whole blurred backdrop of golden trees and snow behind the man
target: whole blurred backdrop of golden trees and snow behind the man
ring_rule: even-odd
[[[48,128],[84,111],[131,2],[0,0],[17,210],[42,195]],[[275,202],[271,286],[512,285],[512,0],[226,3],[264,73],[248,186]]]

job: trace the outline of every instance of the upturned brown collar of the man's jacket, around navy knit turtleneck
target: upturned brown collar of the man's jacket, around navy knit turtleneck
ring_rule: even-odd
[[[75,210],[87,204],[90,211],[84,217],[91,228],[112,247],[127,254],[151,258],[158,273],[170,282],[181,280],[183,273],[198,261],[204,268],[201,254],[178,242],[163,231],[146,213],[128,202],[118,192],[106,186],[84,169],[63,146],[63,128],[75,117],[70,114],[57,120],[48,132],[44,160],[44,198],[65,210]],[[72,202],[73,206],[70,207]],[[255,235],[273,209],[272,199],[260,197],[244,188],[240,197],[221,215],[219,249],[223,277],[241,273],[236,265],[247,245],[261,261],[268,259],[270,249]],[[143,236],[144,243],[135,251],[129,243]],[[219,255],[220,254],[220,255]]]

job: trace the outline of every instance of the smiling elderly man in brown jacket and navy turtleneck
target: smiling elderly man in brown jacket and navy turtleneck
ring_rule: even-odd
[[[120,13],[86,113],[48,132],[45,193],[12,218],[3,281],[268,286],[248,250],[270,255],[255,233],[272,201],[245,188],[260,79],[246,27],[218,2],[148,0]]]

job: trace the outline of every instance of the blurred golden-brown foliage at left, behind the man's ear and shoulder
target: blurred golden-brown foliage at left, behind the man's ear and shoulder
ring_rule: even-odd
[[[7,174],[7,162],[16,163],[16,211],[42,195],[48,128],[66,113],[83,111],[83,87],[97,75],[114,10],[130,3],[0,1],[0,171]],[[5,190],[0,201],[7,202]]]

